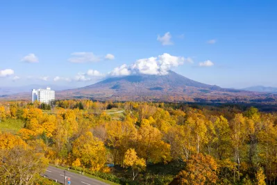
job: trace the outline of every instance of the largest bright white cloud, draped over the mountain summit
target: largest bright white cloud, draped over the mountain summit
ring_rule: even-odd
[[[183,65],[184,62],[192,63],[191,58],[180,56],[171,56],[170,54],[162,54],[158,57],[142,58],[137,60],[133,65],[121,65],[116,67],[109,73],[111,76],[126,76],[130,74],[156,74],[165,75],[172,67]]]

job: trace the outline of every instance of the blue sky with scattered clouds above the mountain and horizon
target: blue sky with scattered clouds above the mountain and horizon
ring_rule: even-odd
[[[85,86],[134,63],[221,87],[277,86],[276,1],[2,1],[0,33],[0,86]]]

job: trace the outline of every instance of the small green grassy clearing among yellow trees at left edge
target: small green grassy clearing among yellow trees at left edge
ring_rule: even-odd
[[[17,131],[19,131],[19,129],[22,129],[23,127],[24,122],[22,120],[7,119],[0,122],[0,131],[2,132],[17,134]]]

